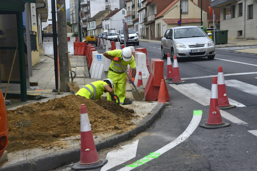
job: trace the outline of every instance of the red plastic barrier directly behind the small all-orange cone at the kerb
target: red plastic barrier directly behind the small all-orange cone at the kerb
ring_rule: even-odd
[[[144,89],[145,100],[156,101],[158,99],[160,84],[164,80],[163,76],[164,61],[161,59],[151,59],[151,72]],[[165,87],[165,100],[169,101],[167,85]]]

